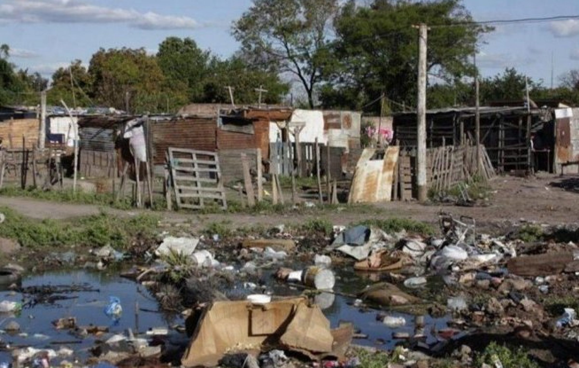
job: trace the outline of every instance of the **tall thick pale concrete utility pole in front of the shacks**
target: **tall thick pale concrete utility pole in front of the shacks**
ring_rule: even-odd
[[[416,26],[413,26],[416,28]],[[428,27],[421,23],[418,27],[418,105],[417,142],[416,142],[416,172],[418,185],[418,200],[426,201],[426,50]]]

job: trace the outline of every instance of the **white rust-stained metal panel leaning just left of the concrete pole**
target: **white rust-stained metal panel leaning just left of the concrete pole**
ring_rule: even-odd
[[[375,159],[378,152],[374,148],[362,152],[350,187],[348,203],[392,200],[394,168],[400,150],[397,146],[388,147],[382,159]]]

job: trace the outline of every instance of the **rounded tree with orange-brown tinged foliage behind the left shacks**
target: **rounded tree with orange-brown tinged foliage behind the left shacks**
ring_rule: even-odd
[[[166,107],[165,78],[155,56],[145,49],[100,49],[89,64],[98,103],[130,112],[157,112]]]

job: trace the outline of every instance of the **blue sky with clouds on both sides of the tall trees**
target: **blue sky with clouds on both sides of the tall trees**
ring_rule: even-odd
[[[475,20],[579,14],[579,0],[463,0]],[[0,0],[0,43],[19,67],[49,76],[69,61],[88,62],[98,48],[144,47],[155,52],[170,35],[229,56],[238,45],[230,25],[251,0]],[[434,30],[433,30],[434,31]],[[551,83],[579,68],[579,20],[497,27],[484,38],[483,75],[515,67]]]

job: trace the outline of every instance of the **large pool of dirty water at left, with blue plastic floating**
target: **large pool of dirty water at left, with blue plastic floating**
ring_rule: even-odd
[[[14,347],[34,347],[37,349],[55,349],[67,347],[75,351],[75,356],[83,361],[90,356],[89,348],[94,345],[95,337],[89,335],[79,338],[67,330],[57,330],[52,321],[65,318],[76,317],[79,326],[106,326],[110,333],[102,336],[107,338],[115,333],[124,333],[127,329],[144,332],[152,327],[164,327],[173,323],[182,323],[178,317],[163,315],[160,313],[140,311],[138,321],[135,321],[135,303],[139,308],[156,311],[158,309],[156,301],[152,298],[143,286],[120,278],[118,275],[109,275],[104,272],[49,272],[43,275],[27,276],[22,281],[23,287],[28,286],[90,286],[98,289],[97,292],[73,292],[56,293],[56,296],[72,297],[65,300],[56,300],[42,304],[36,304],[31,308],[24,308],[19,315],[0,314],[0,329],[6,326],[10,320],[14,320],[20,325],[20,334],[7,334],[3,331],[0,339],[2,343]],[[109,296],[120,298],[123,313],[118,320],[109,318],[104,313],[104,308],[109,302]],[[27,302],[31,300],[30,295],[20,293],[0,292],[0,300],[10,300]],[[24,335],[25,334],[25,335]],[[74,344],[70,343],[75,341]],[[10,353],[0,352],[0,362],[10,361]],[[67,358],[74,360],[74,358]]]

